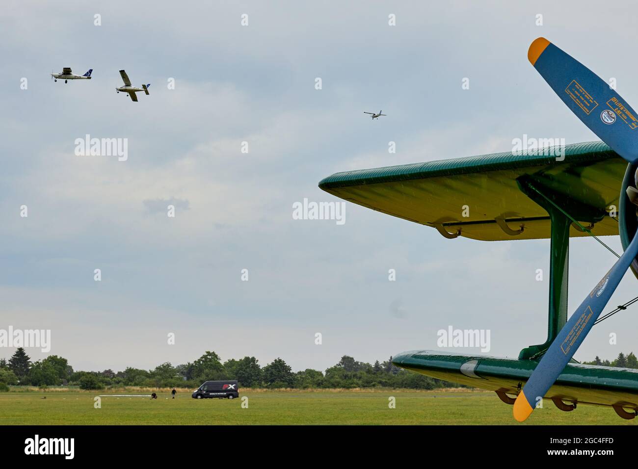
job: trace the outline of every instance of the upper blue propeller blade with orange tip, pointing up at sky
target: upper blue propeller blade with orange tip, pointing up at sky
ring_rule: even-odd
[[[638,114],[616,90],[545,38],[531,43],[528,59],[600,140],[630,163],[638,161]]]

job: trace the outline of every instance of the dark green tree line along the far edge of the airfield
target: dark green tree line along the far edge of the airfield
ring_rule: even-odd
[[[637,368],[638,359],[631,352],[622,352],[614,361],[601,361],[596,357],[586,364]],[[18,348],[7,361],[0,359],[0,391],[8,391],[10,385],[32,385],[38,387],[71,385],[81,389],[104,389],[105,387],[198,387],[207,380],[238,380],[241,387],[277,388],[346,388],[392,387],[396,389],[435,389],[454,387],[457,384],[414,373],[388,361],[374,364],[359,362],[348,355],[325,371],[305,369],[292,371],[281,358],[260,366],[255,357],[229,359],[221,362],[215,352],[205,352],[193,362],[173,366],[169,362],[154,369],[128,367],[124,371],[74,371],[68,360],[58,355],[31,362],[24,348]]]

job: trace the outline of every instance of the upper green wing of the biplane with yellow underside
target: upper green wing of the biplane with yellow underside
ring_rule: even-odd
[[[435,227],[450,237],[549,238],[547,211],[521,190],[520,182],[527,178],[551,194],[558,206],[570,200],[584,207],[572,212],[575,220],[585,227],[593,225],[591,232],[603,236],[618,234],[618,221],[610,212],[613,215],[618,207],[626,169],[627,161],[607,145],[587,142],[567,145],[562,161],[542,154],[494,153],[340,172],[323,179],[319,187],[354,204]],[[570,236],[584,235],[577,225],[570,228]]]

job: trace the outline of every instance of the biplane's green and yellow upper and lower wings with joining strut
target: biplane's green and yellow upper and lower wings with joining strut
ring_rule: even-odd
[[[627,237],[625,225],[619,230],[619,197],[623,179],[633,179],[634,167],[628,168],[627,161],[602,142],[567,145],[561,154],[564,158],[557,160],[495,153],[341,172],[319,183],[337,197],[435,227],[445,237],[553,239],[545,343],[524,348],[517,360],[404,352],[392,359],[396,366],[489,389],[514,403],[512,396],[519,394],[538,357],[567,321],[568,236],[588,235],[584,230],[590,230],[599,236],[621,232]],[[634,206],[623,204],[620,212],[630,214],[620,219],[625,223],[633,217]],[[544,397],[565,411],[579,403],[611,406],[623,419],[633,419],[638,415],[638,371],[570,363]]]

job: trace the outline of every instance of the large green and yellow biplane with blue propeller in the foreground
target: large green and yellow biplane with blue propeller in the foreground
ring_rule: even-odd
[[[446,239],[551,239],[544,343],[523,348],[518,359],[412,350],[394,355],[396,366],[494,391],[513,405],[517,421],[527,419],[542,399],[565,412],[581,404],[606,406],[634,419],[638,369],[579,364],[573,357],[593,325],[638,301],[600,317],[625,272],[638,277],[638,134],[632,133],[638,114],[609,84],[544,38],[531,44],[528,58],[603,142],[342,172],[319,187],[433,227]],[[624,253],[568,320],[570,237],[593,236],[607,247],[598,237],[618,234]],[[494,311],[508,313],[498,304]]]

